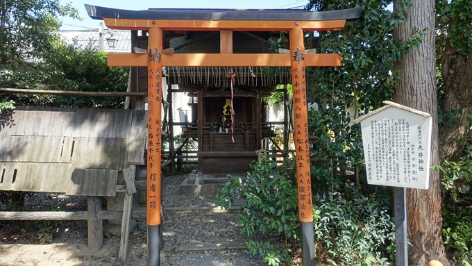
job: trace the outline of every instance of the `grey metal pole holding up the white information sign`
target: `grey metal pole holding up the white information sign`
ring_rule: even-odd
[[[396,266],[408,265],[407,189],[394,188]]]

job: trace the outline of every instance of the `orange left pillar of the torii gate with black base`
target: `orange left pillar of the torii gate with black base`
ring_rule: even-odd
[[[149,28],[148,150],[147,150],[147,265],[160,266],[161,250],[161,103],[162,29]]]

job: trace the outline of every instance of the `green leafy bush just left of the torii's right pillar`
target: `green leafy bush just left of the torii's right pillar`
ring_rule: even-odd
[[[249,240],[246,245],[254,256],[258,254],[269,265],[292,264],[289,242],[298,239],[298,201],[292,162],[277,166],[270,159],[251,165],[244,183],[230,180],[217,194],[217,204],[229,208],[239,198],[246,199],[239,215],[241,233],[251,238],[255,230],[262,233],[280,233],[284,242],[258,242]]]

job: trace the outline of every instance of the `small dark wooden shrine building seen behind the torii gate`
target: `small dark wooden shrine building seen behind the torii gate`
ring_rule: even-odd
[[[279,38],[280,35],[279,32],[248,31],[164,31],[163,34],[164,49],[172,53],[220,53],[221,49],[232,53],[276,53],[271,49],[269,39]],[[233,46],[221,48],[224,38],[231,38]],[[147,49],[145,31],[140,34],[135,32],[132,39],[137,47]],[[196,178],[199,181],[215,176],[226,177],[226,174],[245,175],[251,161],[257,160],[255,151],[261,149],[262,140],[275,136],[274,125],[285,124],[267,121],[267,104],[262,102],[262,97],[276,91],[277,84],[290,82],[289,69],[278,67],[276,70],[278,74],[271,78],[264,74],[263,67],[166,68],[168,76],[162,82],[167,83],[167,90],[163,88],[163,91],[167,92],[165,99],[169,109],[173,109],[173,94],[185,93],[192,99],[189,103],[192,108],[189,122],[174,122],[172,117],[166,117],[169,139],[172,141],[174,137],[174,126],[183,126],[182,137],[197,140],[199,172]],[[147,92],[146,67],[138,67],[131,78],[135,92]],[[289,111],[289,107],[287,105],[285,112]],[[288,130],[293,122],[289,123],[288,115],[285,116],[285,129]],[[170,149],[170,169],[174,168],[178,150],[180,147]]]

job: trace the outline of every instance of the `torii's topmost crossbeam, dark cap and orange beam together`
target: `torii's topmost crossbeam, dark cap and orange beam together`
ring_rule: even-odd
[[[148,30],[158,27],[165,31],[330,31],[344,28],[346,20],[360,17],[362,8],[325,12],[304,10],[230,10],[173,9],[121,10],[85,5],[93,19],[103,19],[108,28]],[[257,22],[257,23],[256,23]]]

